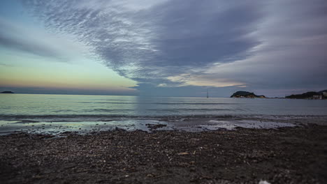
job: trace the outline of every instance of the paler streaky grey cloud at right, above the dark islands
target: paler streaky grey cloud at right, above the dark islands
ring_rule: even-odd
[[[224,79],[269,95],[326,89],[326,1],[272,1],[262,8],[263,21],[252,33],[261,44],[252,47],[251,56],[203,68],[200,77],[190,77],[185,84],[224,86],[215,83]]]

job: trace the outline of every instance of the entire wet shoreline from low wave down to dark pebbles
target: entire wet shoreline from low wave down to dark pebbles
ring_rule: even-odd
[[[89,134],[91,132],[112,131],[123,129],[127,131],[141,130],[179,130],[187,132],[202,132],[212,130],[235,130],[236,128],[282,128],[302,126],[314,123],[327,125],[327,116],[15,116],[0,121],[0,136],[10,133],[33,133],[60,135],[64,132]]]

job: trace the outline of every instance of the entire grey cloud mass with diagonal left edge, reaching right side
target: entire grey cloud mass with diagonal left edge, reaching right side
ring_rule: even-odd
[[[73,34],[106,66],[138,81],[138,89],[327,85],[324,0],[23,3],[49,29]]]

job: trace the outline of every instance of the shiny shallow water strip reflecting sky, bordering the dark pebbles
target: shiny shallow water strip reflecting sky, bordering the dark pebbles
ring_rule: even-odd
[[[117,120],[117,121],[0,121],[0,135],[10,133],[28,132],[35,134],[60,135],[64,132],[77,132],[87,134],[115,130],[116,128],[135,131],[142,130],[152,132],[153,130],[182,130],[188,132],[201,132],[212,130],[235,130],[235,128],[282,128],[294,127],[292,123],[279,123],[273,121],[253,120],[182,120],[182,121],[159,121],[149,119]]]

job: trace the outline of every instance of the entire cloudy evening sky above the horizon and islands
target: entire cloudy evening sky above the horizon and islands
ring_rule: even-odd
[[[321,91],[326,10],[326,0],[2,0],[0,91]]]

